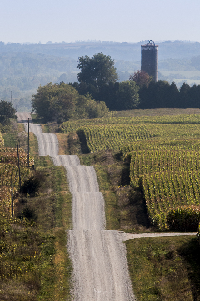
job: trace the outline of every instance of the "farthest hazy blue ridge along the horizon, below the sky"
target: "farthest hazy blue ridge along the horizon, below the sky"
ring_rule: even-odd
[[[103,52],[110,55],[115,60],[124,61],[139,61],[141,60],[141,45],[148,41],[138,43],[113,43],[113,42],[80,42],[80,43],[54,43],[54,44],[20,44],[11,43],[4,44],[0,42],[0,52],[28,52],[28,53],[43,53],[46,55],[71,57],[75,60],[78,56],[92,56],[97,52]],[[200,53],[200,43],[186,42],[163,42],[156,43],[159,45],[159,59],[168,58],[191,58]]]

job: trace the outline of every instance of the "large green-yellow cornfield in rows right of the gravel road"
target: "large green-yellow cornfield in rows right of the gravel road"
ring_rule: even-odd
[[[76,131],[84,152],[121,153],[130,164],[130,184],[141,190],[156,228],[167,228],[170,209],[199,206],[199,114],[71,120],[60,129]]]

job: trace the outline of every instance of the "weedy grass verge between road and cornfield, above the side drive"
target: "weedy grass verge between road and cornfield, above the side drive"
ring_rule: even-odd
[[[107,230],[152,231],[149,229],[143,196],[131,187],[129,165],[120,161],[120,154],[112,151],[79,155],[82,165],[93,165],[99,190],[105,200]]]

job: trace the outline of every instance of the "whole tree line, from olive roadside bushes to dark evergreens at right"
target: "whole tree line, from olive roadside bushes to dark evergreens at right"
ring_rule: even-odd
[[[114,60],[103,53],[79,57],[78,82],[48,83],[33,95],[32,110],[46,121],[107,116],[109,110],[151,108],[200,108],[200,85],[153,81],[138,70],[129,80],[118,82]]]

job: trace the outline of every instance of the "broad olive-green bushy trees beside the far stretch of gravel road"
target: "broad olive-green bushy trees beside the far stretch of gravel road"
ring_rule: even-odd
[[[80,95],[72,84],[61,82],[40,86],[33,95],[32,112],[45,121],[57,120],[58,123],[69,118],[83,119],[103,117],[109,109],[103,101],[95,101],[91,95]]]

